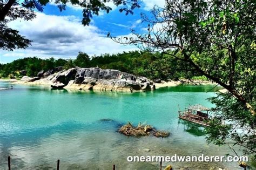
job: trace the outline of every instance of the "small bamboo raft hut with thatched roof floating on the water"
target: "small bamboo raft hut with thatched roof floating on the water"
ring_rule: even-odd
[[[210,120],[208,111],[210,111],[210,108],[196,104],[186,107],[184,111],[179,111],[179,118],[199,125],[208,126],[207,122]]]

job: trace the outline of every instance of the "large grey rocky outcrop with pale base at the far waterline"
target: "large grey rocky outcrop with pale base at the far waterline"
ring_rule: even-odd
[[[33,84],[51,85],[56,89],[62,87],[65,89],[109,91],[146,91],[155,89],[153,81],[145,77],[137,77],[118,70],[100,69],[98,67],[76,67],[58,72],[53,70],[40,71],[37,76],[40,79],[33,81]]]

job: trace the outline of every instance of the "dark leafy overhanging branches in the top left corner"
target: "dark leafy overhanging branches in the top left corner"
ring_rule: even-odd
[[[22,2],[18,0],[0,0],[0,49],[12,51],[21,48],[25,49],[31,45],[31,40],[19,35],[17,30],[9,28],[7,23],[18,18],[26,21],[31,20],[36,17],[35,9],[43,12],[43,6],[50,2],[50,0],[25,0]],[[66,4],[68,3],[84,8],[82,19],[84,26],[89,25],[92,15],[99,15],[100,10],[106,13],[112,10],[109,6],[104,4],[105,2],[109,2],[107,0],[85,0],[83,2],[77,0],[55,0],[54,2],[57,4],[60,11],[65,10]],[[124,7],[120,8],[119,11],[124,11],[125,15],[129,13],[132,14],[133,9],[140,7],[138,0],[115,0],[113,3],[117,6],[123,5]]]

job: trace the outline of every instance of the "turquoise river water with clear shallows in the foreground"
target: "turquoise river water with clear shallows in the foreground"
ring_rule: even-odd
[[[0,81],[0,87],[9,87]],[[202,127],[178,119],[189,104],[213,105],[213,86],[177,86],[153,92],[51,90],[14,85],[0,91],[0,169],[159,169],[159,162],[128,162],[131,155],[225,155],[208,145]],[[105,120],[104,120],[105,119]],[[139,121],[170,131],[168,138],[126,137],[120,125]],[[150,149],[146,152],[145,148]],[[237,162],[164,162],[174,169],[239,169]]]

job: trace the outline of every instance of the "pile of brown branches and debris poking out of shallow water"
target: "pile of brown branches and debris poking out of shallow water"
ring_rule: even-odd
[[[127,136],[134,136],[134,137],[153,134],[157,138],[159,137],[166,138],[166,137],[169,137],[170,135],[170,132],[157,131],[150,125],[142,125],[139,123],[139,125],[136,127],[136,126],[133,126],[130,122],[120,127],[118,132],[123,133]]]

